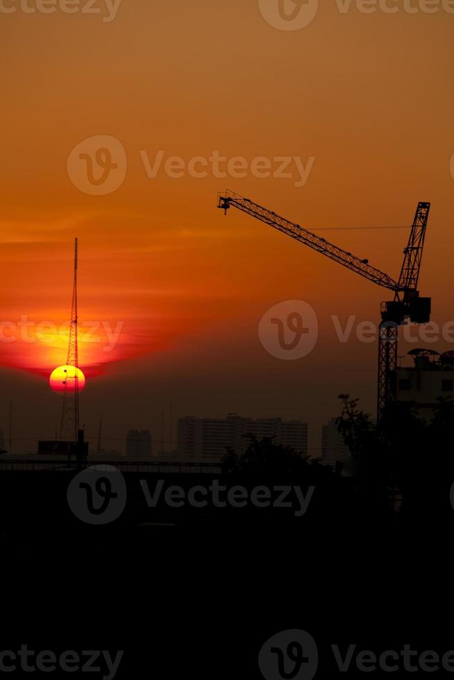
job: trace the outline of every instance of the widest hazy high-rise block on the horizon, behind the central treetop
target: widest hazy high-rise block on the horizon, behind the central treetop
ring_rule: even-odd
[[[251,435],[259,441],[273,438],[278,445],[289,446],[303,455],[308,453],[308,423],[231,414],[227,418],[179,418],[178,456],[221,459],[228,450],[240,455],[249,446]]]

